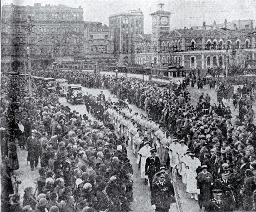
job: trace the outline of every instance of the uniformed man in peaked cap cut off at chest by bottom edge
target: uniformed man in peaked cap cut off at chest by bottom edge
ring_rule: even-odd
[[[221,200],[222,190],[212,190],[214,198],[212,198],[204,211],[224,211],[224,202]]]

